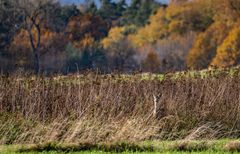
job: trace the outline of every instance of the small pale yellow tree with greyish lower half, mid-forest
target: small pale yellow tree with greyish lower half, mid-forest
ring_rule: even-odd
[[[134,59],[136,52],[127,39],[127,35],[134,33],[135,30],[136,26],[113,27],[109,31],[108,37],[101,41],[109,58],[110,68],[129,71],[136,67]]]

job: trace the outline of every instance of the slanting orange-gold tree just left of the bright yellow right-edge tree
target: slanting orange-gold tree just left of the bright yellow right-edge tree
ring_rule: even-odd
[[[216,22],[205,32],[200,33],[187,56],[187,66],[192,69],[207,68],[229,32],[229,26]]]

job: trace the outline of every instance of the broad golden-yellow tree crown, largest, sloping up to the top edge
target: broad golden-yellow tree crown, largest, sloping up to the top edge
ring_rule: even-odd
[[[211,3],[206,0],[171,3],[150,17],[150,23],[129,36],[135,46],[154,44],[172,34],[205,31],[213,22]]]

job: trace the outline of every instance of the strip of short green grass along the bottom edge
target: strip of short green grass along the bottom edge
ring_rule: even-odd
[[[56,144],[47,143],[39,145],[10,145],[0,146],[0,152],[6,154],[35,154],[35,153],[172,153],[172,154],[209,154],[226,153],[235,154],[240,151],[239,140],[202,140],[202,141],[145,141],[137,144],[115,143],[115,144]]]

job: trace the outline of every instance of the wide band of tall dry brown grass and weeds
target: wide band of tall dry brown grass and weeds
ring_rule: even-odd
[[[0,143],[240,137],[239,76],[0,77]]]

